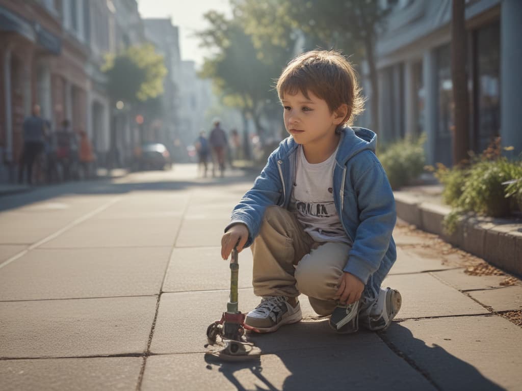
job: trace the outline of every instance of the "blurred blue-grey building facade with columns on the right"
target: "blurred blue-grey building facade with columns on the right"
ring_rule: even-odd
[[[379,124],[385,143],[425,133],[429,164],[452,165],[453,93],[451,0],[383,0],[391,6],[386,30],[376,43]],[[470,148],[484,150],[500,136],[522,152],[517,123],[522,76],[522,2],[466,2]],[[365,87],[369,83],[364,81]],[[367,90],[367,89],[366,89]],[[360,121],[364,124],[364,118]]]

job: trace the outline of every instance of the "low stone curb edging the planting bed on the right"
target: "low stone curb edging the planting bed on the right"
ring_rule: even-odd
[[[394,196],[400,219],[509,273],[522,275],[522,222],[479,216],[462,218],[455,232],[448,235],[442,221],[451,211],[449,206],[422,202],[411,194]]]

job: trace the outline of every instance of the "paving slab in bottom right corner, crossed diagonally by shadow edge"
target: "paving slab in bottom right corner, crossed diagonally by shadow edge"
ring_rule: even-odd
[[[443,390],[520,389],[522,329],[500,316],[392,324],[388,339]]]

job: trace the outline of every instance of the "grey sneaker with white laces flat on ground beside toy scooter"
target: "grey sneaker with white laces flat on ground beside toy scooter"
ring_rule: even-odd
[[[286,296],[264,296],[259,306],[248,312],[245,323],[257,328],[259,333],[270,333],[282,325],[299,322],[303,319],[301,304],[295,298],[293,307],[289,299]]]

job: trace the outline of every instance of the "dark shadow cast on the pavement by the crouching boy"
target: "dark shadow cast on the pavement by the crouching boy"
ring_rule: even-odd
[[[427,346],[414,338],[398,323],[379,334],[360,331],[337,335],[327,321],[303,321],[274,334],[249,335],[248,339],[263,350],[261,360],[222,363],[205,359],[207,368],[218,365],[219,372],[241,391],[504,389],[442,347]],[[406,351],[397,349],[398,345]],[[244,375],[235,374],[243,369],[250,369],[262,386],[246,383]]]

